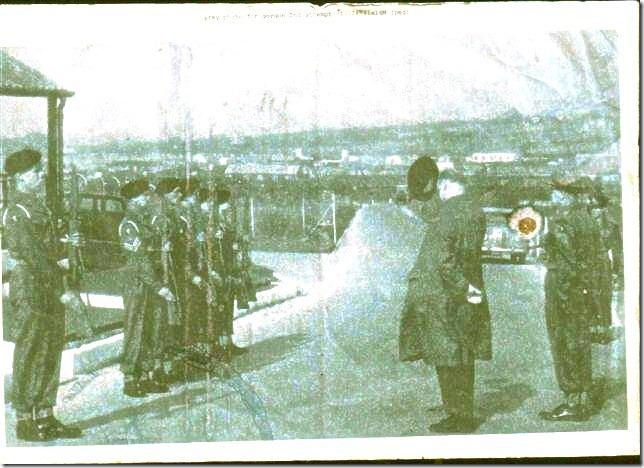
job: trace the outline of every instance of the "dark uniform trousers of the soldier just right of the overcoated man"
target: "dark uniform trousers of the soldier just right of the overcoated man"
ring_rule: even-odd
[[[590,293],[590,292],[589,292]],[[548,270],[545,279],[546,326],[559,387],[566,394],[589,391],[592,385],[592,306],[581,287]]]

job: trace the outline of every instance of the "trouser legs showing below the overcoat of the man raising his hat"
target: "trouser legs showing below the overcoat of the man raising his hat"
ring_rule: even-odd
[[[474,413],[474,363],[436,366],[436,374],[447,414],[471,418]]]

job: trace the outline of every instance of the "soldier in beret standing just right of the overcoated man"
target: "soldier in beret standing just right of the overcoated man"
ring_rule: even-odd
[[[588,208],[588,187],[575,179],[555,179],[558,206],[544,239],[547,273],[545,314],[555,375],[564,401],[539,413],[548,421],[584,421],[591,415],[592,272],[599,261],[600,232]]]

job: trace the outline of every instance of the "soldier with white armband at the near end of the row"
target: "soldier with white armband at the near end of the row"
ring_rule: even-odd
[[[156,261],[159,239],[151,225],[154,211],[150,206],[149,190],[147,179],[134,180],[121,189],[128,207],[119,234],[131,273],[123,294],[125,325],[121,371],[123,393],[131,397],[168,391],[159,378],[165,343],[159,333],[158,321],[166,304],[174,303],[175,297],[163,283]]]

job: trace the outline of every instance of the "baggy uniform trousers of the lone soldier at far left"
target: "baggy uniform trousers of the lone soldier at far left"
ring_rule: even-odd
[[[56,405],[60,360],[65,344],[65,311],[59,295],[39,284],[25,266],[11,278],[11,306],[15,315],[12,404],[29,413]]]

